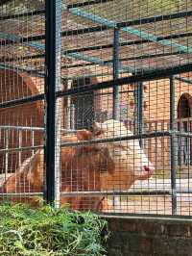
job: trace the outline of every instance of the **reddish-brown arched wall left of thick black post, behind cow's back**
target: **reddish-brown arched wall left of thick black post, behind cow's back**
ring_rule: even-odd
[[[12,70],[0,71],[0,103],[12,101],[18,98],[36,95],[43,88],[43,81],[36,78],[32,80],[27,74],[17,74]],[[8,109],[0,110],[0,125],[16,126],[43,126],[43,102],[27,103]],[[5,131],[1,131],[0,148],[6,146]],[[18,147],[18,132],[10,130],[9,148]],[[42,133],[35,133],[35,145],[42,143]],[[32,145],[31,132],[22,132],[22,146]],[[23,161],[32,154],[32,150],[22,152]],[[0,173],[5,172],[5,153],[0,154]],[[14,171],[18,166],[18,152],[9,154],[8,169]]]

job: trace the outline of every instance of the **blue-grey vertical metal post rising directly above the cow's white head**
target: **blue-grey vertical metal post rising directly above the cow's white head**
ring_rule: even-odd
[[[113,43],[113,80],[119,78],[119,30],[114,29],[114,43]],[[120,99],[119,87],[117,84],[113,86],[113,118],[119,120],[120,118]]]

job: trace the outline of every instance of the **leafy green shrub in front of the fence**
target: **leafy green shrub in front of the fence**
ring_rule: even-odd
[[[0,255],[106,255],[107,222],[66,208],[0,205]]]

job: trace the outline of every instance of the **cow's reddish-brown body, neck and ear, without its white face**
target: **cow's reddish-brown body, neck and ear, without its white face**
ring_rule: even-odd
[[[87,130],[78,131],[77,135],[62,137],[65,142],[87,141],[93,134]],[[100,171],[112,172],[113,161],[109,158],[108,148],[97,144],[61,148],[61,192],[83,192],[101,190]],[[29,202],[36,206],[36,197],[25,196],[26,192],[43,192],[43,150],[27,159],[23,165],[10,176],[1,188],[4,193],[21,193],[20,196],[8,197],[14,202]],[[23,194],[22,194],[23,193]],[[6,198],[6,194],[4,196]],[[73,209],[101,210],[106,204],[103,196],[61,196],[61,204],[69,203]]]

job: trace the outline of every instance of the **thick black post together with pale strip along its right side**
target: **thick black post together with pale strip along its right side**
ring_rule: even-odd
[[[58,190],[60,190],[60,184],[58,184],[60,182],[60,149],[58,148],[60,121],[57,118],[59,110],[56,104],[56,90],[60,88],[61,0],[45,1],[45,18],[45,199],[47,203],[57,206]]]

